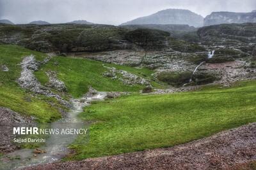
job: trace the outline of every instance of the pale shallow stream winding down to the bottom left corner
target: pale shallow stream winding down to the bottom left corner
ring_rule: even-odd
[[[105,92],[97,92],[97,94],[91,97],[85,96],[80,99],[72,99],[72,110],[68,111],[67,117],[61,118],[56,122],[52,122],[51,129],[86,128],[86,122],[77,118],[77,115],[83,111],[84,106],[90,105],[91,101],[102,101],[104,100],[104,97],[106,97]],[[60,160],[68,154],[69,150],[67,149],[67,146],[76,138],[77,135],[50,135],[49,138],[46,139],[45,146],[40,147],[40,149],[44,150],[46,153],[40,153],[34,157],[33,149],[16,150],[15,152],[8,153],[3,157],[19,157],[19,159],[10,159],[0,162],[0,169],[19,169],[26,166],[46,164]]]

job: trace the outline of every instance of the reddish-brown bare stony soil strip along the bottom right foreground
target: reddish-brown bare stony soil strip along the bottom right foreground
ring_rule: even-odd
[[[256,160],[256,123],[172,148],[26,169],[229,169]]]

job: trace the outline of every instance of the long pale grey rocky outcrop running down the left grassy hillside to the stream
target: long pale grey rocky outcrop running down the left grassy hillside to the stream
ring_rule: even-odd
[[[23,89],[30,90],[36,94],[42,94],[48,97],[56,98],[61,104],[70,107],[70,103],[62,99],[58,94],[54,94],[49,88],[44,87],[37,80],[34,71],[38,70],[40,63],[35,60],[34,55],[25,57],[20,63],[22,71],[20,73],[20,78],[17,80],[20,87]]]

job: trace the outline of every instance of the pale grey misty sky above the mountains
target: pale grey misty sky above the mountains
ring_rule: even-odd
[[[256,10],[256,0],[0,0],[0,19],[15,24],[88,20],[119,25],[167,8],[187,9],[205,17],[212,11]]]

